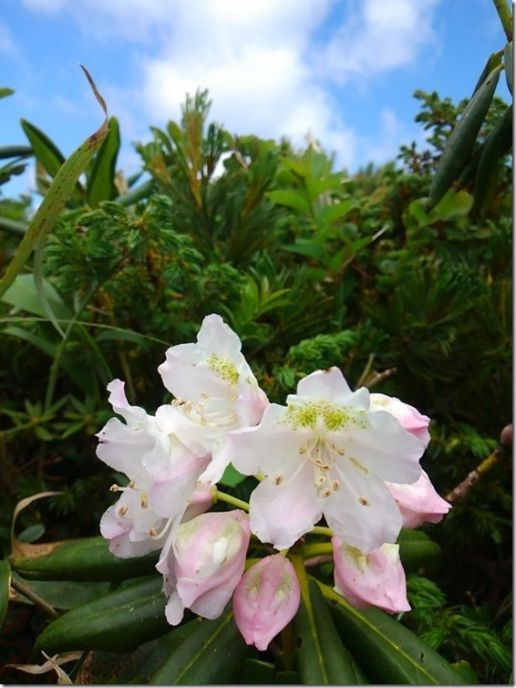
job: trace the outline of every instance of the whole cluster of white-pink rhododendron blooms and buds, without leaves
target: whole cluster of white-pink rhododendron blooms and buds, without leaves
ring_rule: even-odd
[[[127,484],[112,486],[120,496],[100,529],[119,557],[160,551],[170,624],[185,609],[215,619],[233,600],[245,641],[265,650],[300,604],[290,552],[308,565],[308,541],[321,537],[350,604],[410,608],[400,530],[449,509],[420,466],[427,416],[351,390],[338,368],[300,380],[285,405],[269,403],[218,315],[197,342],[169,348],[158,371],[173,396],[154,415],[129,404],[122,381],[108,385],[122,420],[100,431],[97,455]],[[230,466],[255,477],[248,503],[219,485]],[[210,511],[215,501],[233,508]],[[251,537],[258,560],[246,570]]]

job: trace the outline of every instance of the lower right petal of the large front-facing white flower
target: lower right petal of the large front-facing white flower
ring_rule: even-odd
[[[338,473],[339,489],[324,501],[324,516],[335,535],[363,552],[394,543],[402,527],[399,508],[385,483],[350,464]]]

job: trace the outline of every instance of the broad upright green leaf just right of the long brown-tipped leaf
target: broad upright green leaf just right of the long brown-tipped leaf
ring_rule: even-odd
[[[88,178],[86,196],[92,208],[97,208],[102,201],[112,201],[118,196],[115,174],[119,149],[120,128],[118,120],[111,117],[108,134],[93,158]]]

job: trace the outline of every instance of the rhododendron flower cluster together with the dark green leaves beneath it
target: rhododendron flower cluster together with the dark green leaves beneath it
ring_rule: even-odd
[[[165,656],[158,683],[234,680],[243,664],[303,683],[462,682],[389,616],[410,609],[402,529],[450,508],[420,465],[430,419],[353,391],[336,367],[270,403],[215,314],[196,342],[168,349],[158,372],[170,399],[152,414],[128,402],[123,381],[108,385],[116,415],[97,455],[116,471],[116,500],[83,572],[117,580],[136,565],[133,576],[145,575],[64,614],[37,649],[101,649],[99,625],[109,633],[124,613],[115,649],[147,641]],[[383,657],[379,667],[364,653]]]

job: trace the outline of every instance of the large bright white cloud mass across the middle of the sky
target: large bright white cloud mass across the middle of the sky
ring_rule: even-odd
[[[372,146],[346,125],[330,84],[409,65],[434,40],[439,0],[23,2],[67,13],[92,41],[129,43],[128,85],[110,86],[107,76],[99,84],[124,137],[148,139],[148,125],[177,120],[185,94],[207,88],[210,118],[231,133],[288,136],[303,146],[310,131],[325,150],[338,152],[338,165],[351,169],[365,150],[377,162],[382,151],[395,154],[399,124],[384,114]]]

